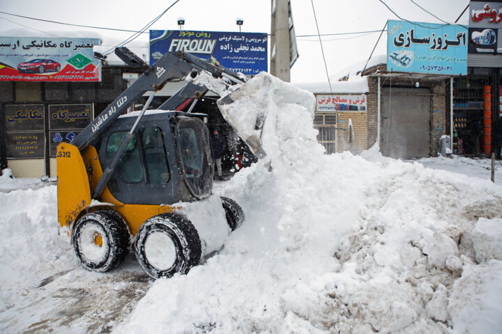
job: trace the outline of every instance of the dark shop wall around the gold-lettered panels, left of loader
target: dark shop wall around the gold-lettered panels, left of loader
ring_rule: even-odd
[[[15,177],[55,176],[55,159],[50,159],[49,156],[52,135],[54,131],[59,130],[50,129],[50,106],[90,104],[93,106],[94,116],[98,116],[126,88],[126,81],[122,77],[123,70],[123,67],[104,66],[101,82],[0,82],[0,167],[12,169]],[[35,130],[37,135],[43,133],[44,136],[36,143],[36,147],[43,150],[41,156],[36,154],[36,157],[29,159],[6,157],[8,134],[24,134],[21,128],[7,129],[6,113],[12,108],[21,109],[22,106],[40,106],[38,110],[44,114],[43,129]],[[32,130],[29,130],[29,133],[33,133]]]

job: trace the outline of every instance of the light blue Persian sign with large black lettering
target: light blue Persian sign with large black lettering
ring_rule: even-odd
[[[387,70],[427,74],[467,73],[466,26],[388,21]]]

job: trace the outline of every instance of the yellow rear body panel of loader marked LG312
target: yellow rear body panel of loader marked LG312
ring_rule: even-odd
[[[75,221],[91,204],[91,189],[79,149],[68,143],[57,148],[58,221],[61,227]]]

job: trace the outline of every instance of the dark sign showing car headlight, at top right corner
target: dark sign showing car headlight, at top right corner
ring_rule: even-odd
[[[469,54],[502,53],[502,3],[469,3]]]

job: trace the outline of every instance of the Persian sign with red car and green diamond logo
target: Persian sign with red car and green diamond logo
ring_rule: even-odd
[[[96,38],[0,37],[0,81],[100,81]]]

